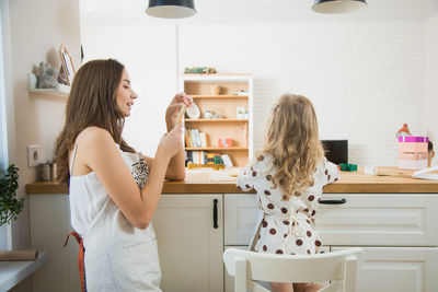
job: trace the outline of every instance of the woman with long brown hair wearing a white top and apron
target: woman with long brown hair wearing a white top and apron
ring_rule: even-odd
[[[81,242],[82,290],[89,292],[161,291],[151,219],[164,178],[185,177],[175,117],[192,100],[175,95],[165,114],[168,133],[148,157],[122,138],[136,98],[122,63],[87,62],[74,77],[57,140],[60,178],[70,183],[73,235]]]

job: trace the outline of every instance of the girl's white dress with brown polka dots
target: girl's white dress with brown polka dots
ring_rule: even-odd
[[[319,253],[322,241],[313,225],[322,188],[339,177],[337,166],[322,159],[313,174],[314,184],[304,191],[296,191],[290,200],[284,200],[280,187],[274,188],[270,155],[253,159],[238,177],[238,188],[256,190],[258,207],[264,217],[260,233],[250,246],[255,252],[286,255],[313,255]]]

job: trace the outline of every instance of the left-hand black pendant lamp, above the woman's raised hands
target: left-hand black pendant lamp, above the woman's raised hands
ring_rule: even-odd
[[[184,19],[196,14],[193,0],[149,0],[146,13],[161,19]]]

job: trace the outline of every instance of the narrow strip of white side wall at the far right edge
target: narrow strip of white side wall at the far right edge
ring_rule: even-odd
[[[424,122],[438,153],[438,14],[427,21]],[[433,160],[438,165],[438,154]]]

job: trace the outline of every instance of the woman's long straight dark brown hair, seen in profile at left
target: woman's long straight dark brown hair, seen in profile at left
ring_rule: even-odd
[[[66,122],[56,142],[58,180],[69,182],[69,153],[78,135],[88,127],[107,130],[123,151],[135,152],[122,138],[125,117],[116,100],[124,68],[107,59],[89,61],[78,70],[67,102]]]

